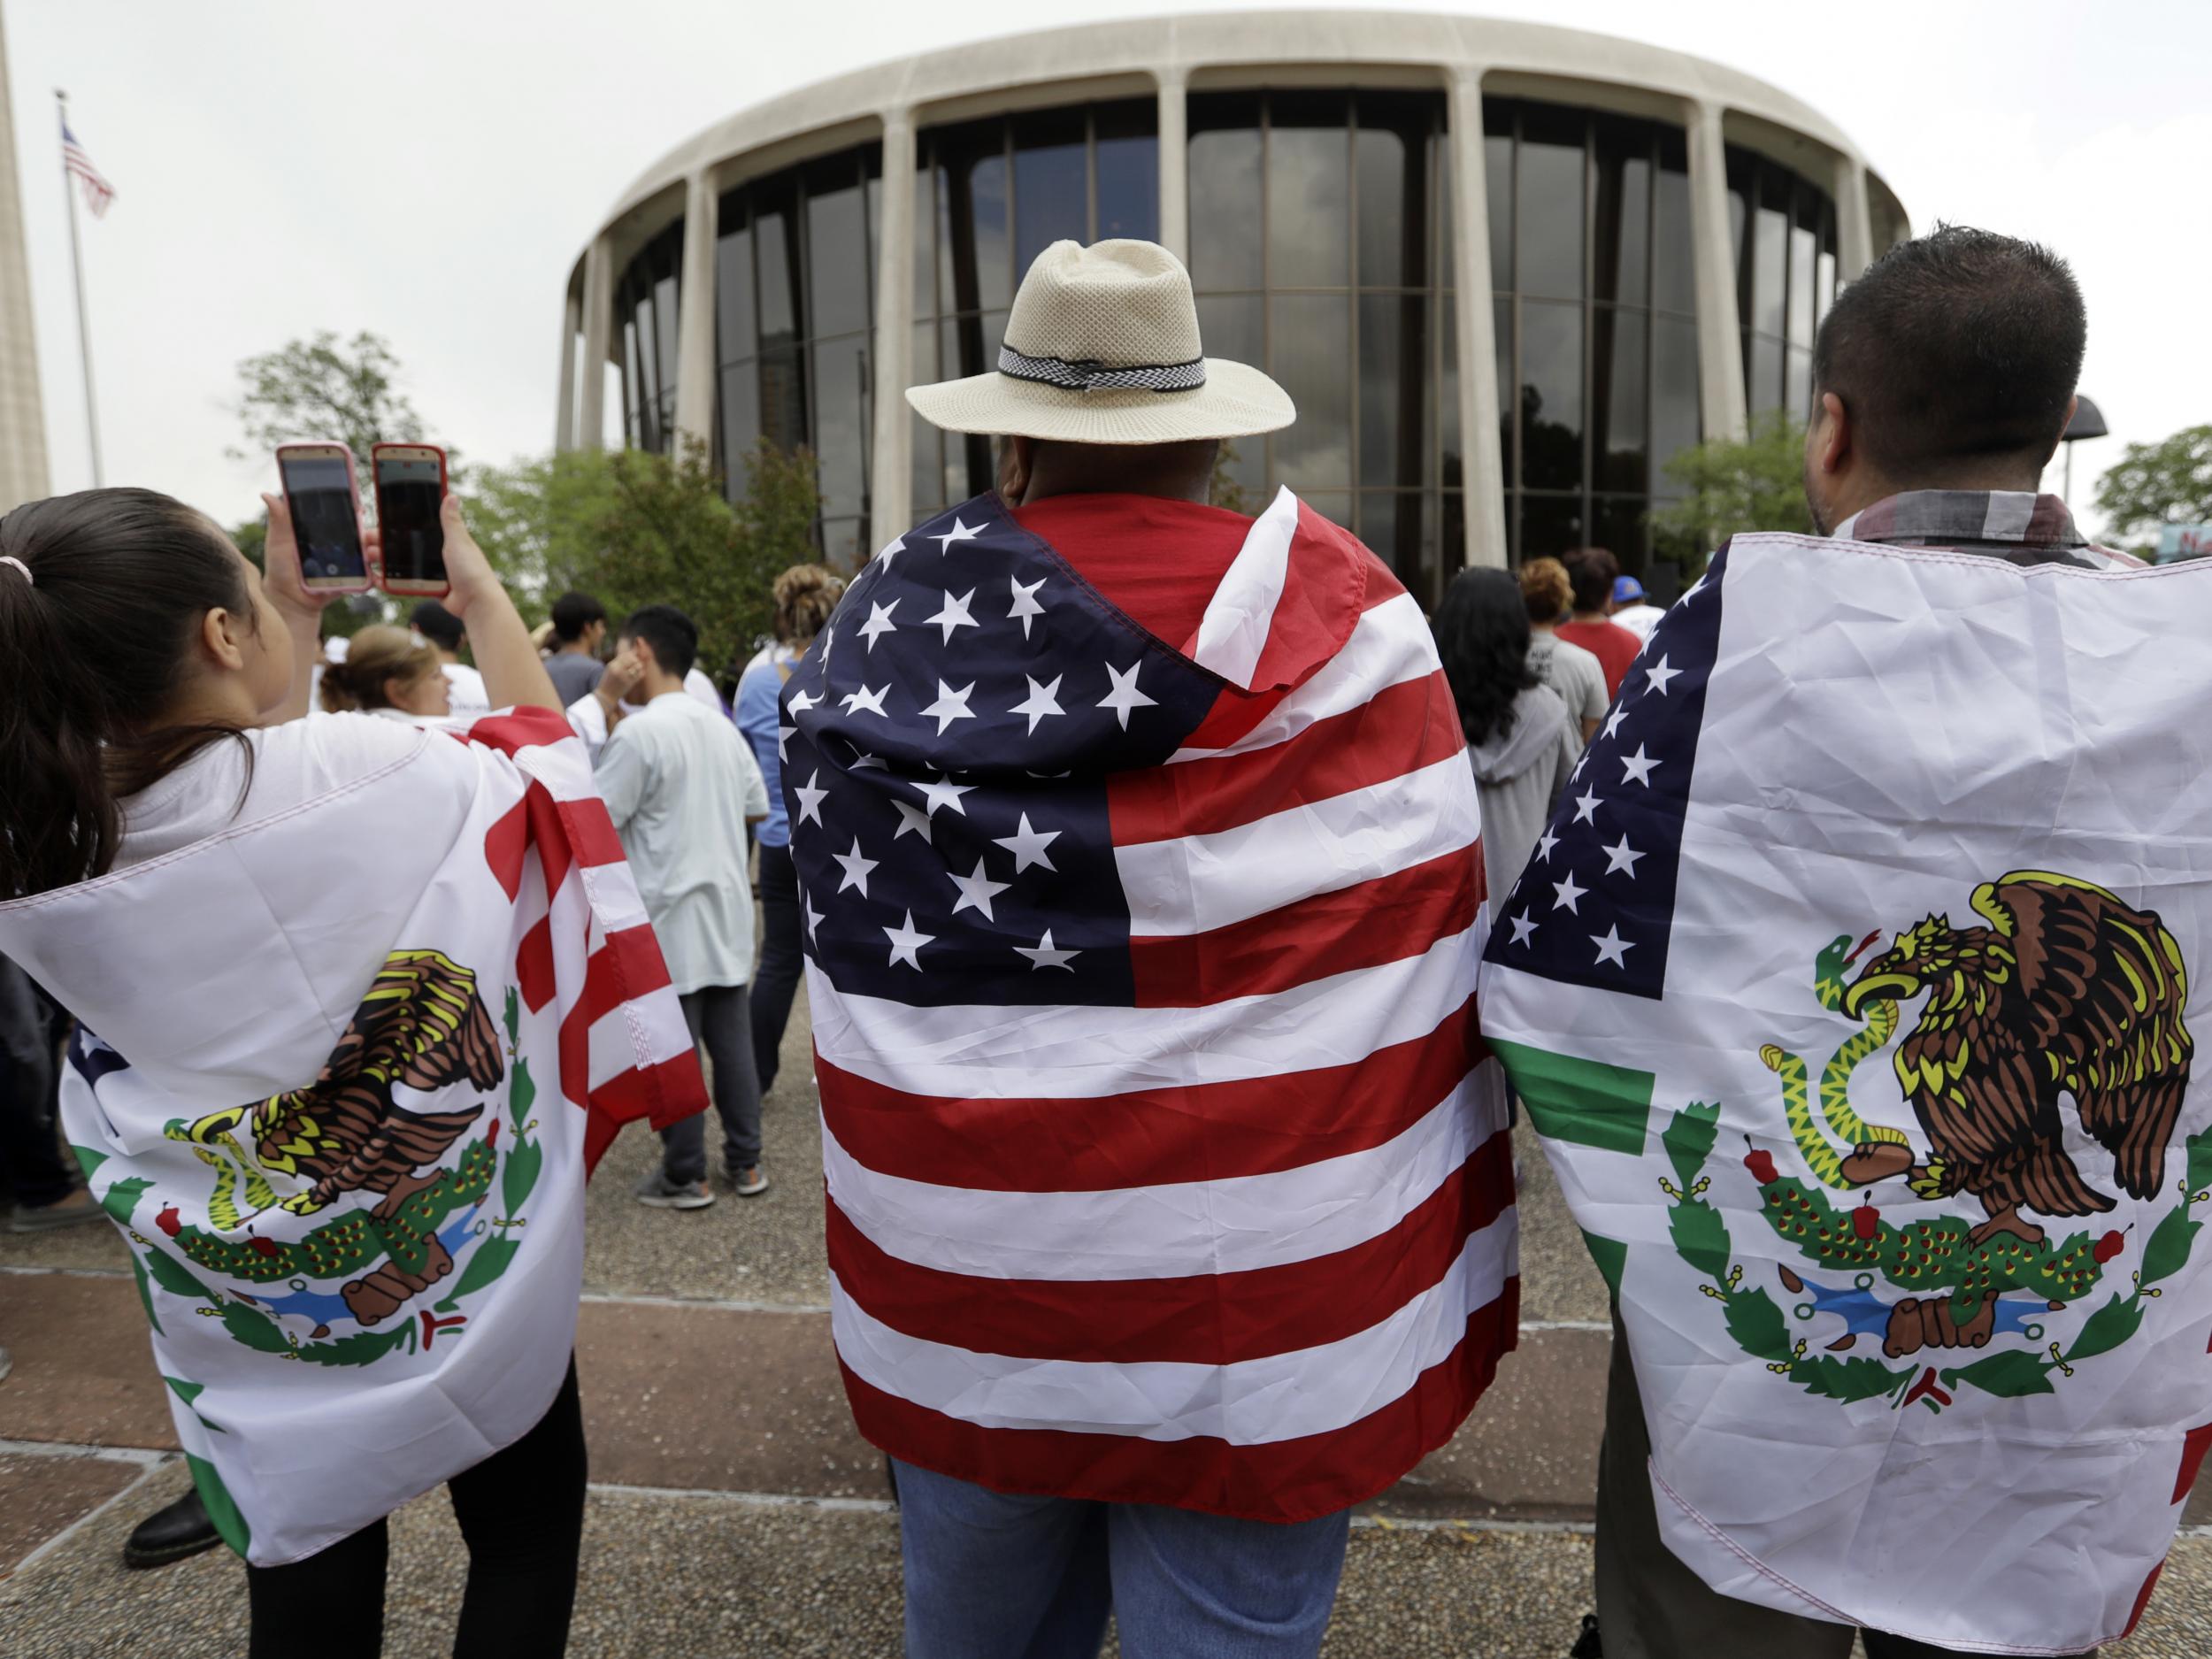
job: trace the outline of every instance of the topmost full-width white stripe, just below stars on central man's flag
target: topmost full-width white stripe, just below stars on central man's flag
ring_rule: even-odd
[[[1086,1099],[1349,1066],[1427,1037],[1475,987],[1475,929],[1380,967],[1203,1009],[914,1009],[838,991],[807,962],[814,1046],[885,1088],[945,1099]]]

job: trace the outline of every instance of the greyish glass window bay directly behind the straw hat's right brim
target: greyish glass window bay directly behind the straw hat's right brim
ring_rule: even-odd
[[[1460,566],[1451,179],[1436,93],[1194,93],[1190,276],[1208,356],[1265,367],[1298,422],[1243,438],[1259,511],[1290,484],[1433,604]]]

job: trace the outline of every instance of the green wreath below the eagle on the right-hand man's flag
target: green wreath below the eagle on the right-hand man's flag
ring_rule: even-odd
[[[2181,1203],[2166,1212],[2143,1245],[2135,1287],[2126,1296],[2115,1292],[2081,1323],[2068,1345],[2004,1349],[1953,1367],[1918,1363],[1900,1367],[1876,1358],[1838,1358],[1814,1354],[1803,1336],[1792,1338],[1790,1321],[1774,1298],[1763,1287],[1745,1283],[1743,1267],[1734,1261],[1728,1221],[1705,1201],[1705,1192],[1712,1188],[1705,1166],[1714,1155],[1719,1119],[1717,1104],[1692,1102],[1674,1113],[1659,1137],[1679,1181],[1677,1186],[1677,1181],[1659,1177],[1659,1188],[1672,1201],[1668,1234],[1674,1252],[1705,1279],[1699,1290],[1723,1305],[1728,1334],[1745,1354],[1765,1360],[1770,1371],[1787,1376],[1807,1394],[1829,1400],[1889,1396],[1900,1409],[1918,1400],[1940,1413],[1962,1385],[1973,1385],[1997,1398],[2053,1394],[2057,1380],[2075,1374],[2075,1365],[2135,1336],[2143,1323],[2146,1303],[2161,1296],[2159,1283],[2181,1272],[2197,1248],[2197,1234],[2205,1225],[2194,1214],[2197,1206],[2212,1201],[2212,1128],[2205,1128],[2185,1141],[2188,1172],[2179,1183]],[[1754,1179],[1761,1157],[1754,1152],[1745,1159]],[[1876,1272],[1893,1283],[1911,1283],[1911,1270],[1924,1256],[1936,1254],[1936,1243],[1953,1237],[1962,1241],[1971,1232],[1969,1223],[1958,1217],[1913,1221],[1907,1228],[1880,1219],[1871,1225],[1854,1221],[1820,1192],[1785,1175],[1761,1181],[1759,1190],[1776,1237],[1827,1267],[1856,1270],[1858,1290],[1871,1290]],[[1984,1245],[1951,1252],[1955,1272],[1947,1274],[1947,1281],[1955,1279],[1958,1285],[1953,1307],[1964,1307],[1964,1316],[1971,1316],[1982,1296],[2035,1283],[2053,1287],[2051,1305],[2057,1312],[2099,1283],[2104,1267],[2097,1254],[2099,1243],[2093,1243],[2088,1234],[2073,1234],[2057,1245],[2031,1248],[2013,1234],[1997,1234]],[[1785,1287],[1792,1279],[1794,1274],[1785,1267]],[[2059,1294],[2068,1290],[2070,1294]],[[1801,1303],[1794,1312],[1805,1321],[1816,1310]],[[2044,1338],[2042,1325],[2028,1325],[2024,1334],[2033,1343]]]

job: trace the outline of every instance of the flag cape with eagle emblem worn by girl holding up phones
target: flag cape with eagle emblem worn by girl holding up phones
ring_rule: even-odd
[[[254,1564],[544,1416],[588,1164],[622,1121],[706,1104],[582,743],[542,710],[0,905],[0,949],[82,1022],[62,1126],[128,1239],[201,1498]]]

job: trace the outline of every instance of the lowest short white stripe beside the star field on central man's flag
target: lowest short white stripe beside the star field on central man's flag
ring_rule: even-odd
[[[1462,852],[1480,823],[1475,774],[1449,754],[1234,830],[1117,845],[1113,860],[1130,931],[1181,938]]]

